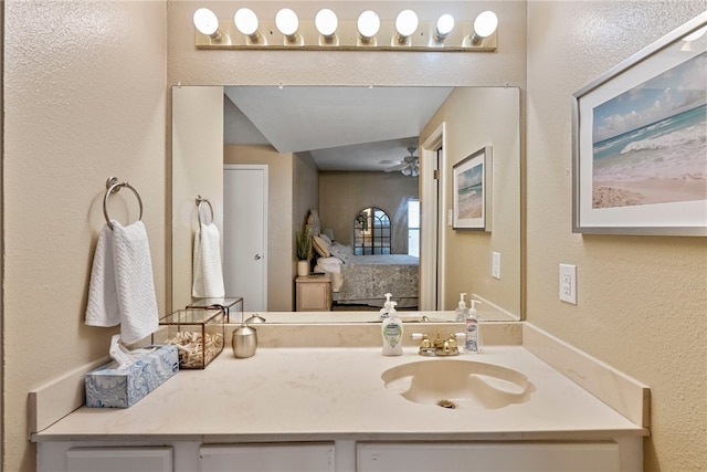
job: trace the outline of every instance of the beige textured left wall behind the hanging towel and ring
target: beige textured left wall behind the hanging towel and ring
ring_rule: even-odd
[[[166,292],[167,7],[6,1],[2,470],[33,471],[28,391],[108,354],[84,325],[110,176],[140,193],[158,307]],[[129,191],[110,217],[137,214]]]

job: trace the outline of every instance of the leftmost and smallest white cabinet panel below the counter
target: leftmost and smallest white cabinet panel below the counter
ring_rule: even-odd
[[[68,472],[171,472],[172,448],[72,448],[66,451]]]

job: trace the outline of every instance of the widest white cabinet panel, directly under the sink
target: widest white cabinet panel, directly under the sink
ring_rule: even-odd
[[[619,472],[615,442],[359,443],[359,472]]]

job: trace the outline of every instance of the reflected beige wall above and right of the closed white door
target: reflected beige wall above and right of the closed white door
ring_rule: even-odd
[[[293,155],[272,146],[224,146],[223,162],[267,165],[267,310],[292,311]]]

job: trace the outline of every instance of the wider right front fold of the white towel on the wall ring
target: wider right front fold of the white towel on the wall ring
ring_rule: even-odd
[[[159,326],[152,261],[147,231],[141,221],[123,227],[113,223],[113,261],[120,307],[120,338],[136,343]]]

